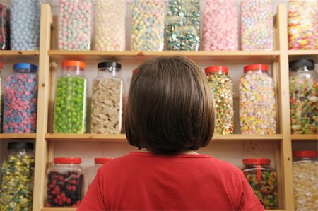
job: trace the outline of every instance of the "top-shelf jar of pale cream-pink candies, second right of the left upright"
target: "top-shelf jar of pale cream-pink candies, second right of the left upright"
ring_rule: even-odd
[[[126,47],[125,20],[126,1],[97,0],[95,4],[95,49],[98,51],[124,51]]]

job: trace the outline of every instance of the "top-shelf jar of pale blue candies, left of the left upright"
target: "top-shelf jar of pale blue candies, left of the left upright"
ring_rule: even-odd
[[[11,0],[11,50],[32,51],[40,47],[40,1]]]

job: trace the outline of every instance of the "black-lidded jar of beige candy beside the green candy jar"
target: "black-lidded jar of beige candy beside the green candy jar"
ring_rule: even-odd
[[[122,129],[123,80],[117,76],[122,65],[114,61],[98,64],[93,80],[92,133],[120,133]]]

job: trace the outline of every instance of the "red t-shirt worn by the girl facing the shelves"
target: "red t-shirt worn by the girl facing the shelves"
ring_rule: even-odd
[[[208,155],[131,152],[98,170],[81,210],[264,210],[242,171]]]

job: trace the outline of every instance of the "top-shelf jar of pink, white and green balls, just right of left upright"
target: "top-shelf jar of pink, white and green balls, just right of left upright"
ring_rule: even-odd
[[[90,50],[92,36],[92,2],[90,0],[59,0],[60,50]]]

